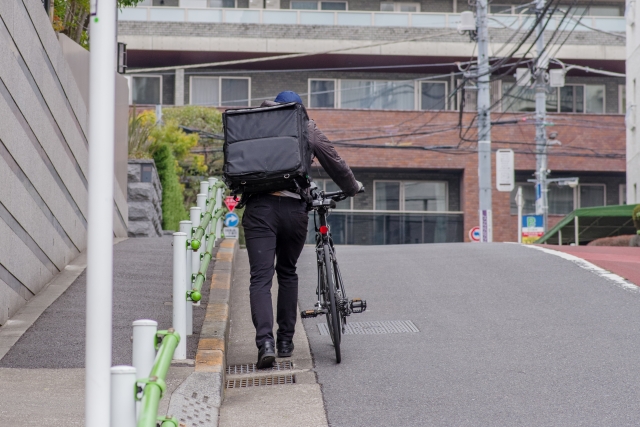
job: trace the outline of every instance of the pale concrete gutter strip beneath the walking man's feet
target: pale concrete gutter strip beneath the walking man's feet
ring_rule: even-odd
[[[277,301],[277,279],[273,279],[271,293]],[[249,307],[249,259],[246,250],[240,250],[236,260],[231,287],[231,330],[227,365],[231,372],[246,372],[258,358],[255,345],[255,329]],[[277,329],[277,325],[275,325]],[[294,384],[260,385],[227,388],[220,408],[220,427],[321,427],[327,426],[327,418],[320,385],[316,382],[313,360],[305,329],[300,321],[294,336],[295,350],[291,358],[278,358],[283,363],[291,361],[292,369],[259,370],[248,373],[227,373],[226,382],[238,385],[245,380],[250,384],[260,379],[294,375]],[[227,371],[229,372],[229,370]]]

